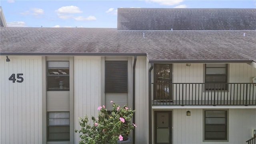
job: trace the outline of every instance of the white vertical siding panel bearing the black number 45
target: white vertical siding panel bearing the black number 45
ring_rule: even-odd
[[[1,56],[1,134],[2,144],[42,143],[42,58]],[[8,80],[23,74],[24,81]]]

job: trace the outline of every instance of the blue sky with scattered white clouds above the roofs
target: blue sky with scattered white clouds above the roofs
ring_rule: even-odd
[[[10,27],[116,28],[117,8],[256,8],[256,0],[0,0]]]

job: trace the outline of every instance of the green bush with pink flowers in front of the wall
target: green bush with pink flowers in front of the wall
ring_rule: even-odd
[[[113,101],[110,102],[113,104],[110,114],[104,105],[99,106],[98,118],[92,116],[93,125],[88,124],[88,116],[79,118],[81,129],[75,130],[80,133],[79,144],[116,144],[137,127],[131,124],[135,110],[131,110],[127,105],[120,107]]]

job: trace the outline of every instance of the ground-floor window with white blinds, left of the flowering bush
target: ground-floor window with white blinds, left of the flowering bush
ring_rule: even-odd
[[[47,141],[69,141],[69,112],[48,112]]]

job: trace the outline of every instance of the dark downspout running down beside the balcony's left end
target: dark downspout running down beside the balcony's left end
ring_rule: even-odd
[[[151,71],[154,68],[154,63],[148,70],[148,142],[152,144],[152,88],[151,88]]]

